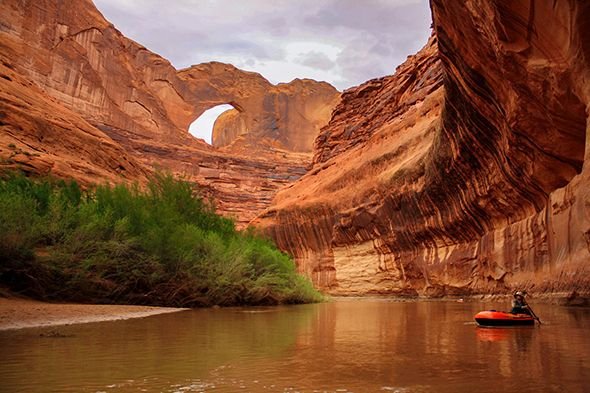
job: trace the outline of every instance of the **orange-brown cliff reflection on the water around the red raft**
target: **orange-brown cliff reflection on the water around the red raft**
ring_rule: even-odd
[[[562,308],[540,307],[547,318],[542,328],[481,329],[472,318],[481,304],[344,301],[320,307],[296,342],[295,369],[307,370],[302,388],[336,380],[353,391],[483,392],[566,380],[576,391],[590,377],[588,311],[568,316]],[[482,388],[490,378],[494,386]]]

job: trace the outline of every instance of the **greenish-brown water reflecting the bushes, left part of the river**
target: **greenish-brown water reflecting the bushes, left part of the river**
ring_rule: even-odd
[[[52,328],[63,339],[40,337],[47,329],[0,332],[0,391],[164,391],[170,382],[282,356],[313,314],[305,307],[204,309]]]

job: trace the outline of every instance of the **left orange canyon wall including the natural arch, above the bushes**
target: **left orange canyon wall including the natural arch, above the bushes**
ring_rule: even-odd
[[[177,71],[90,0],[5,0],[0,14],[0,167],[84,183],[170,170],[244,225],[305,173],[339,99],[326,83],[273,86],[226,64]],[[240,113],[234,128],[219,123],[221,151],[188,127],[225,103]]]

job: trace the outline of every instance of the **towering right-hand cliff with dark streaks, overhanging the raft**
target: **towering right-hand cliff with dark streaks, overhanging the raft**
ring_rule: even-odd
[[[431,1],[256,222],[335,294],[590,292],[590,4]]]

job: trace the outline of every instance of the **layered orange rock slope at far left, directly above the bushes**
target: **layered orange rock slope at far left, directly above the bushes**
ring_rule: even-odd
[[[0,168],[74,177],[83,185],[147,175],[124,148],[5,59],[0,62],[0,130]]]

